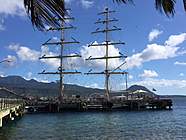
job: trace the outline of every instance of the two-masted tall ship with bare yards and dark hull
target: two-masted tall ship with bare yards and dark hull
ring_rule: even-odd
[[[59,96],[57,99],[53,100],[52,102],[45,103],[45,108],[49,110],[49,112],[61,112],[64,110],[78,110],[78,111],[87,111],[87,110],[96,110],[96,111],[104,111],[104,110],[113,110],[113,109],[129,109],[129,110],[140,110],[140,109],[171,109],[172,101],[171,100],[160,100],[156,98],[146,98],[145,96],[141,97],[141,93],[138,91],[136,92],[130,92],[127,90],[127,77],[128,72],[124,69],[124,66],[126,65],[126,58],[127,56],[125,54],[122,54],[121,52],[118,52],[118,55],[110,55],[110,47],[111,46],[123,46],[125,45],[122,41],[113,41],[110,36],[111,33],[121,31],[122,29],[115,26],[114,23],[118,22],[119,20],[116,18],[112,18],[112,14],[116,11],[110,10],[109,8],[105,8],[102,12],[98,13],[101,18],[99,18],[95,24],[96,25],[102,25],[102,27],[97,28],[96,31],[92,32],[92,34],[102,34],[104,35],[104,39],[102,43],[91,43],[88,45],[88,47],[96,48],[96,47],[103,47],[105,54],[103,56],[94,57],[89,56],[86,58],[86,61],[88,63],[90,61],[96,61],[101,60],[104,62],[104,69],[102,71],[95,71],[95,70],[89,70],[87,73],[84,73],[85,76],[95,76],[95,75],[104,75],[105,79],[105,87],[103,95],[99,95],[96,97],[89,97],[89,93],[86,93],[86,97],[81,97],[79,95],[76,96],[69,96],[65,95],[64,91],[64,77],[65,75],[76,75],[76,74],[82,74],[81,72],[77,70],[69,70],[65,68],[66,61],[69,60],[69,58],[77,58],[81,57],[81,55],[77,53],[71,53],[66,54],[64,52],[64,49],[66,47],[69,47],[68,45],[75,45],[78,44],[79,41],[74,39],[73,37],[69,41],[66,37],[66,31],[70,29],[75,29],[74,26],[70,24],[69,21],[74,20],[71,16],[66,16],[64,19],[56,19],[53,20],[59,20],[61,22],[60,27],[49,27],[47,31],[52,32],[58,32],[60,34],[60,39],[58,41],[53,40],[52,38],[47,40],[45,43],[43,43],[43,46],[59,46],[60,51],[58,55],[47,55],[44,54],[40,57],[41,60],[49,60],[49,59],[57,59],[59,60],[59,66],[56,71],[52,72],[46,72],[46,70],[43,70],[39,74],[43,75],[59,75]],[[118,59],[120,64],[115,67],[110,66],[111,60]],[[112,91],[110,90],[110,80],[111,75],[120,75],[126,79],[126,90],[120,92],[124,95],[121,95],[119,98],[116,95],[111,95]],[[130,98],[129,98],[130,96]]]

